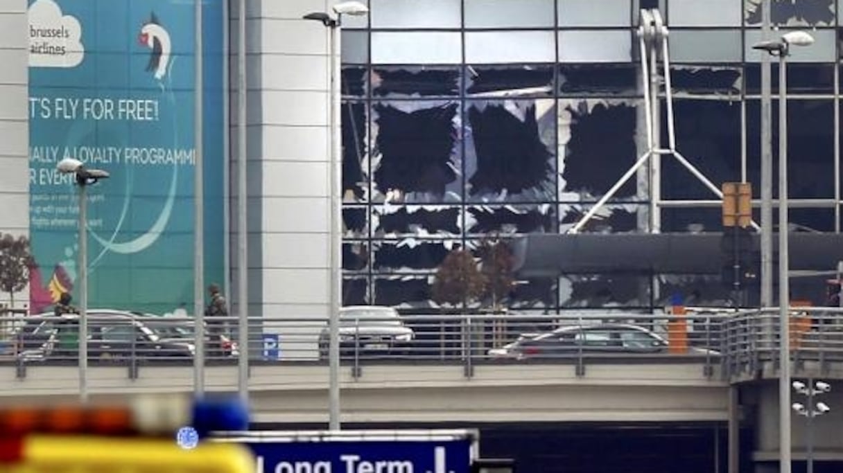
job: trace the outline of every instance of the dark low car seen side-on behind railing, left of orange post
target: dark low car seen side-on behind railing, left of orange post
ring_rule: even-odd
[[[668,341],[647,328],[627,323],[568,325],[552,332],[525,333],[513,343],[491,348],[493,359],[554,358],[576,353],[665,353]],[[716,354],[704,348],[690,353]]]

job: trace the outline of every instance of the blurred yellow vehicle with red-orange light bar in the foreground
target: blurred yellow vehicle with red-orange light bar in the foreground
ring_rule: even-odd
[[[254,456],[243,445],[201,442],[184,407],[175,398],[143,398],[126,407],[2,408],[0,471],[255,473]],[[214,420],[199,422],[209,428]]]

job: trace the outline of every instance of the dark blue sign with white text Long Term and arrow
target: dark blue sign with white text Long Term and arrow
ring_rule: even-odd
[[[472,441],[249,443],[256,473],[470,473]]]

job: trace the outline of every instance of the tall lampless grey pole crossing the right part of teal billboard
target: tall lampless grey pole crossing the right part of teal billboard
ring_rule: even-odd
[[[193,391],[196,396],[205,394],[205,252],[204,233],[205,219],[202,212],[205,211],[202,199],[204,199],[203,169],[202,169],[202,2],[194,0],[196,14],[195,28],[195,51],[194,61],[196,71],[194,72],[194,190],[193,190],[193,316],[196,319],[196,330],[194,346],[196,353],[193,356]]]

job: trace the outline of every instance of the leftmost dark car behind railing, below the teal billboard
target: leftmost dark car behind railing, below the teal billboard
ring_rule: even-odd
[[[195,353],[193,343],[168,340],[132,312],[89,310],[89,359],[185,359]],[[21,361],[78,359],[79,316],[43,314],[27,317],[14,336],[14,355]]]

